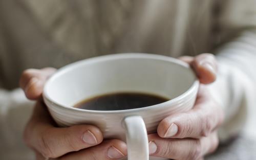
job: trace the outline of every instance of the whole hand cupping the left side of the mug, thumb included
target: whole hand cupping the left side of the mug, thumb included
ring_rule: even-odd
[[[30,100],[37,100],[25,131],[24,141],[34,150],[36,159],[119,159],[127,154],[120,140],[104,140],[99,128],[75,125],[58,128],[42,102],[41,94],[54,68],[29,69],[23,72],[19,84]],[[103,141],[103,142],[102,142]]]

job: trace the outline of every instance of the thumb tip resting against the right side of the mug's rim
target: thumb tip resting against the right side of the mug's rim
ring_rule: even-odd
[[[217,61],[214,55],[209,53],[200,54],[190,64],[201,83],[208,84],[216,80]]]

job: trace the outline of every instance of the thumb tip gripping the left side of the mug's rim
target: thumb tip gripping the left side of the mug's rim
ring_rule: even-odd
[[[28,99],[35,100],[42,94],[46,80],[56,71],[55,68],[47,67],[41,70],[28,69],[22,73],[19,86],[24,90]]]

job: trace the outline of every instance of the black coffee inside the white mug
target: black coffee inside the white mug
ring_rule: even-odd
[[[166,101],[168,99],[152,94],[114,93],[83,100],[74,107],[89,110],[123,110],[147,107]]]

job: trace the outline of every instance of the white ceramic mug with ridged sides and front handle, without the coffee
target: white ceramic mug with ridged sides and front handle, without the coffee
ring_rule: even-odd
[[[147,133],[156,132],[159,122],[168,115],[191,109],[198,87],[199,81],[187,63],[166,56],[127,53],[81,60],[60,68],[47,81],[43,97],[59,126],[95,125],[104,138],[126,140],[129,160],[148,160]],[[170,100],[126,110],[72,107],[86,98],[117,92],[151,93]]]

